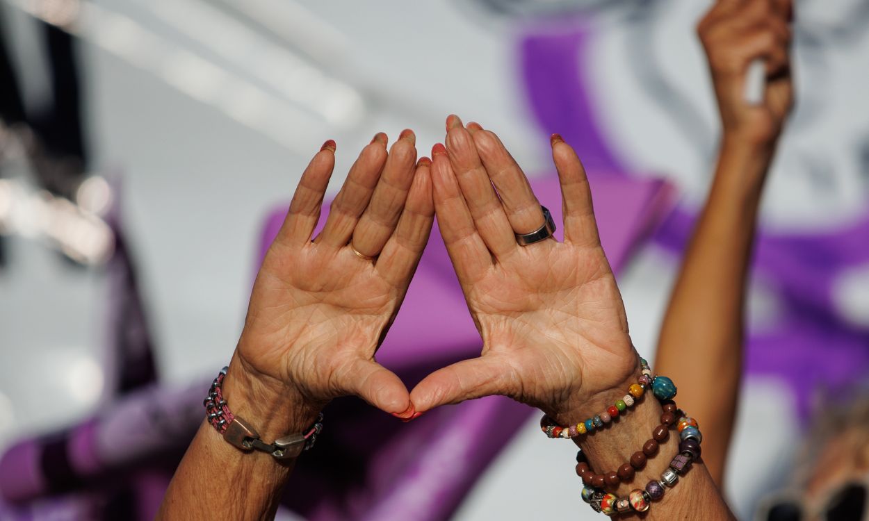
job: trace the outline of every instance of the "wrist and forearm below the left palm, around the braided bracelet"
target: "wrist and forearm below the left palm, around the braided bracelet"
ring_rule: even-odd
[[[223,380],[232,412],[254,426],[270,443],[302,432],[315,420],[315,407],[291,392],[281,392],[246,370],[234,357]],[[203,389],[203,397],[207,390]],[[242,452],[203,421],[184,454],[158,519],[274,518],[295,459],[277,460],[265,452]]]

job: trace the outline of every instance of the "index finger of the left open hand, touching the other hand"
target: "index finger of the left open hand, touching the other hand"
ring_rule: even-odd
[[[395,234],[377,259],[378,273],[394,287],[408,287],[428,244],[428,234],[434,222],[431,164],[428,157],[420,158],[417,163],[413,185]]]

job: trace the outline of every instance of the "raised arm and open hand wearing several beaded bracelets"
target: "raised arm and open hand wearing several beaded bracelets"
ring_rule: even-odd
[[[446,142],[446,148],[436,145],[432,151],[434,207],[483,349],[479,358],[423,379],[411,392],[416,408],[509,396],[546,412],[548,435],[578,442],[587,464],[577,467],[574,497],[584,490],[593,508],[613,513],[616,498],[634,497],[643,502],[627,511],[650,508],[647,519],[732,518],[700,459],[699,443],[680,444],[676,414],[664,416],[652,392],[638,383],[651,385],[627,333],[625,308],[600,247],[586,173],[574,149],[553,135],[564,214],[559,242],[534,234],[547,222],[546,213],[494,133],[474,123],[463,127],[451,116]],[[517,234],[541,240],[528,243]],[[706,432],[708,438],[715,435]],[[559,442],[567,443],[552,443]],[[648,456],[640,452],[644,447]],[[545,478],[567,478],[575,463],[567,459],[564,465],[563,473],[553,469]],[[679,467],[679,475],[671,465]],[[653,488],[649,507],[643,489],[658,486],[665,472],[670,485],[677,478],[679,484],[663,496],[658,494],[663,488]]]

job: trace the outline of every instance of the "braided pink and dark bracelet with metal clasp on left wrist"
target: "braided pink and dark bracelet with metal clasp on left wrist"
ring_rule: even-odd
[[[248,422],[229,411],[229,404],[223,399],[223,379],[229,367],[223,367],[217,378],[211,382],[209,396],[202,405],[205,406],[206,419],[222,434],[223,439],[230,445],[238,447],[242,451],[267,452],[276,459],[295,458],[303,451],[310,450],[314,446],[317,435],[322,432],[322,412],[313,425],[300,434],[289,434],[268,444],[260,439],[260,435]]]

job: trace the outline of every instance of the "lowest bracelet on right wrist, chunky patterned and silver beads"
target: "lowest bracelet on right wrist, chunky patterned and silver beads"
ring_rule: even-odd
[[[685,475],[693,462],[700,459],[700,442],[703,440],[703,436],[697,427],[697,421],[685,416],[683,412],[679,412],[681,418],[676,424],[680,435],[679,453],[667,466],[667,470],[661,472],[660,479],[649,481],[644,489],[635,489],[624,498],[619,498],[600,488],[586,486],[582,489],[582,500],[591,505],[594,511],[604,513],[607,516],[614,516],[645,512],[649,510],[653,501],[663,498],[665,491],[676,486],[679,483],[679,477]]]

